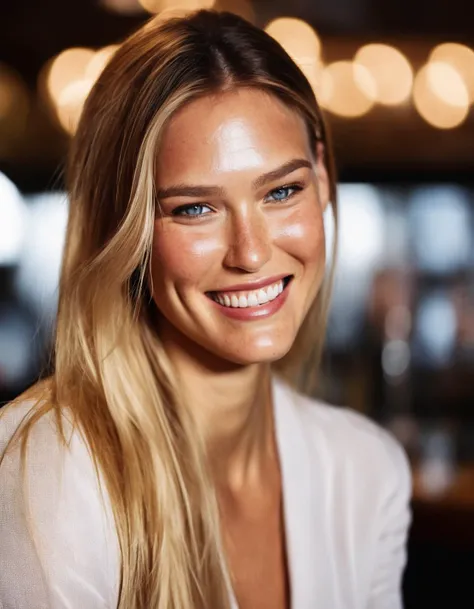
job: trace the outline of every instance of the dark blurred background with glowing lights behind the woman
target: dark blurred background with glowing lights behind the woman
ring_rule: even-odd
[[[211,4],[1,0],[2,403],[48,365],[68,213],[63,166],[90,87],[150,12]],[[214,6],[267,27],[327,115],[341,233],[320,395],[390,428],[409,454],[406,607],[474,606],[472,2]]]

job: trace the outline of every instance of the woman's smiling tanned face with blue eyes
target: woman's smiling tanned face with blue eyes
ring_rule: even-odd
[[[165,344],[237,364],[289,351],[324,276],[322,154],[299,115],[258,90],[173,116],[157,159],[152,252]]]

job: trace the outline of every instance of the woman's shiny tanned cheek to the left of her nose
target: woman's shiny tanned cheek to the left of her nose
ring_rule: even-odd
[[[199,283],[220,258],[221,244],[216,237],[199,234],[192,227],[161,226],[157,221],[152,249],[154,284]]]

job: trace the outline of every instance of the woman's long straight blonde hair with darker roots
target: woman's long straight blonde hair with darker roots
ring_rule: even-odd
[[[154,330],[148,273],[163,126],[183,104],[236,87],[266,91],[303,116],[313,149],[324,144],[337,219],[311,86],[277,42],[229,13],[155,19],[128,38],[91,91],[72,142],[54,374],[27,393],[38,404],[21,430],[22,450],[35,421],[53,411],[61,430],[68,408],[110,497],[120,609],[229,606],[204,447]],[[332,276],[275,364],[300,389],[316,378]]]

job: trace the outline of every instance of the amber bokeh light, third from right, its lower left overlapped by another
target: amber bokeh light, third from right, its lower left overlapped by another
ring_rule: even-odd
[[[413,70],[398,49],[385,44],[363,46],[354,57],[364,66],[376,85],[376,101],[388,106],[405,102],[413,85]]]

